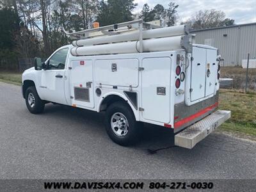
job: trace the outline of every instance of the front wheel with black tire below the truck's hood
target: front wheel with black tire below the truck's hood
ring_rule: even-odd
[[[34,103],[30,102],[29,104],[29,98],[31,99],[31,97],[33,97]],[[41,100],[40,97],[38,96],[35,86],[29,86],[29,88],[26,90],[25,99],[26,99],[27,108],[30,113],[38,114],[44,111],[45,102],[44,100]]]

